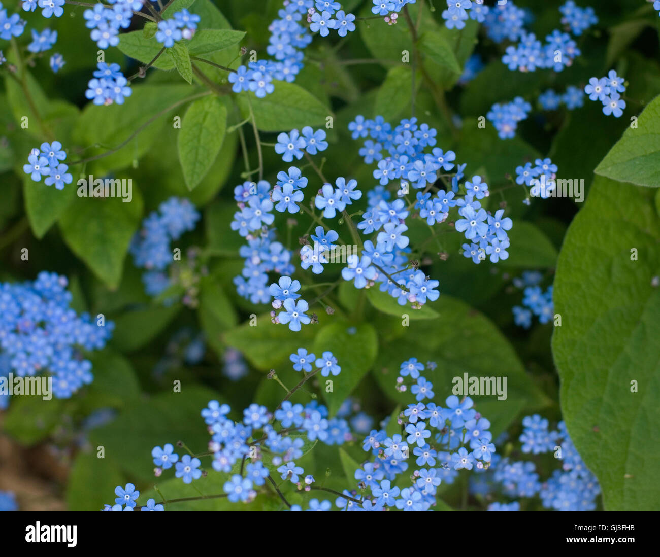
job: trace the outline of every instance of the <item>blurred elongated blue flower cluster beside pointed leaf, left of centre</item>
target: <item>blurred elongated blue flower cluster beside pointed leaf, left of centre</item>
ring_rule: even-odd
[[[189,200],[171,197],[143,221],[129,250],[135,266],[147,270],[142,279],[149,295],[158,296],[172,285],[165,271],[173,260],[170,243],[180,239],[184,232],[195,229],[199,217]]]

